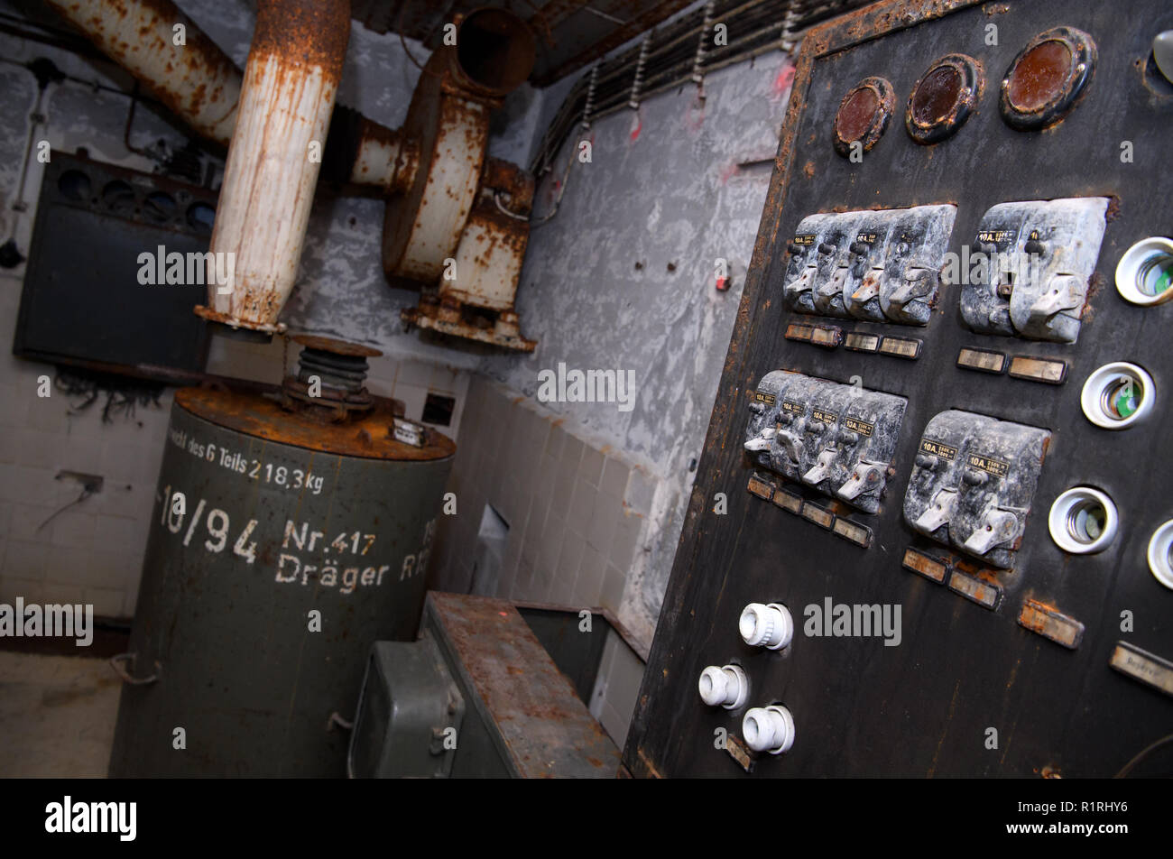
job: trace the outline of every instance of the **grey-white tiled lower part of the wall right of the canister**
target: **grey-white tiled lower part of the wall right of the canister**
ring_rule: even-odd
[[[475,377],[441,516],[429,587],[467,593],[486,505],[509,526],[496,596],[619,615],[624,588],[649,540],[656,480],[605,445],[568,431],[531,399]],[[643,662],[611,634],[591,710],[622,745]]]

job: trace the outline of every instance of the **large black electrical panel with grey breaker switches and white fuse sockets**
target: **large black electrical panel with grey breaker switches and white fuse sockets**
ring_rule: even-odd
[[[1167,31],[906,0],[805,35],[632,773],[1103,777],[1169,733]]]

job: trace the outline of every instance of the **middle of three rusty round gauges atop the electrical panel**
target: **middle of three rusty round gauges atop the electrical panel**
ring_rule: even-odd
[[[904,127],[917,143],[940,143],[969,119],[982,97],[982,63],[965,54],[935,60],[913,86],[904,110]]]

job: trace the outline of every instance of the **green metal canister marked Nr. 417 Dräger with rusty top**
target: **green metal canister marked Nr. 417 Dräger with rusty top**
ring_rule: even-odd
[[[415,636],[454,452],[396,441],[388,400],[328,422],[178,391],[110,776],[345,775],[332,717],[375,641]]]

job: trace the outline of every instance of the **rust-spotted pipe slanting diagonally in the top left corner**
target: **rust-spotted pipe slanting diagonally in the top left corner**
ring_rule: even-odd
[[[46,0],[196,131],[226,144],[240,72],[170,0]],[[179,42],[179,43],[177,43]]]

